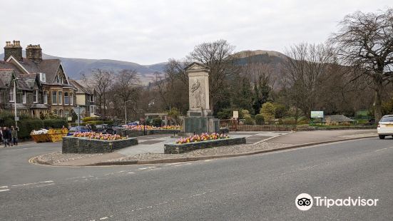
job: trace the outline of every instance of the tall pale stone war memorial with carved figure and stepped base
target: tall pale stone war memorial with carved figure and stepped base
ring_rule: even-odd
[[[210,68],[201,63],[185,67],[188,73],[190,109],[183,120],[183,133],[218,133],[220,121],[211,115],[209,103]]]

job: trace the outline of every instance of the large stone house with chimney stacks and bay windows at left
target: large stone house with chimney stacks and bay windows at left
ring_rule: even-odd
[[[67,117],[76,107],[76,88],[68,82],[68,77],[59,59],[43,59],[40,45],[26,47],[26,58],[22,56],[19,41],[6,41],[4,61],[0,61],[0,69],[14,71],[17,82],[21,85],[17,93],[23,98],[23,82],[33,90],[33,105],[26,108],[31,115],[39,117],[40,113],[53,111],[56,115]],[[23,81],[22,81],[23,79]],[[26,97],[27,98],[27,97]],[[17,100],[18,101],[18,100]],[[22,102],[23,104],[23,102]],[[12,104],[9,102],[9,106]],[[19,103],[17,103],[17,108]],[[7,106],[6,106],[7,107]],[[24,109],[21,106],[21,110]]]

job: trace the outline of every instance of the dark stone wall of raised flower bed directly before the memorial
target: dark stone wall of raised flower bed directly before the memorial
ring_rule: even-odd
[[[177,154],[177,153],[185,153],[185,152],[190,152],[193,150],[204,149],[204,148],[213,148],[213,147],[237,145],[237,144],[245,144],[245,138],[226,138],[226,139],[207,140],[207,141],[183,143],[183,144],[165,144],[164,153]]]

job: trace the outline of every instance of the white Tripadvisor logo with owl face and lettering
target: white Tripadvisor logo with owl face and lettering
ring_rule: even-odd
[[[295,199],[295,205],[297,209],[306,211],[310,210],[312,205],[317,207],[350,207],[350,206],[377,206],[377,202],[379,199],[364,199],[362,197],[347,197],[345,199],[330,199],[327,197],[311,197],[311,195],[307,193],[301,193],[297,195]]]

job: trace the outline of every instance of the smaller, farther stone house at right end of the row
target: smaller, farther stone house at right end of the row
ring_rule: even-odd
[[[68,79],[78,91],[76,91],[76,105],[81,107],[81,115],[85,117],[97,117],[96,95],[94,91],[84,87],[78,81]]]

